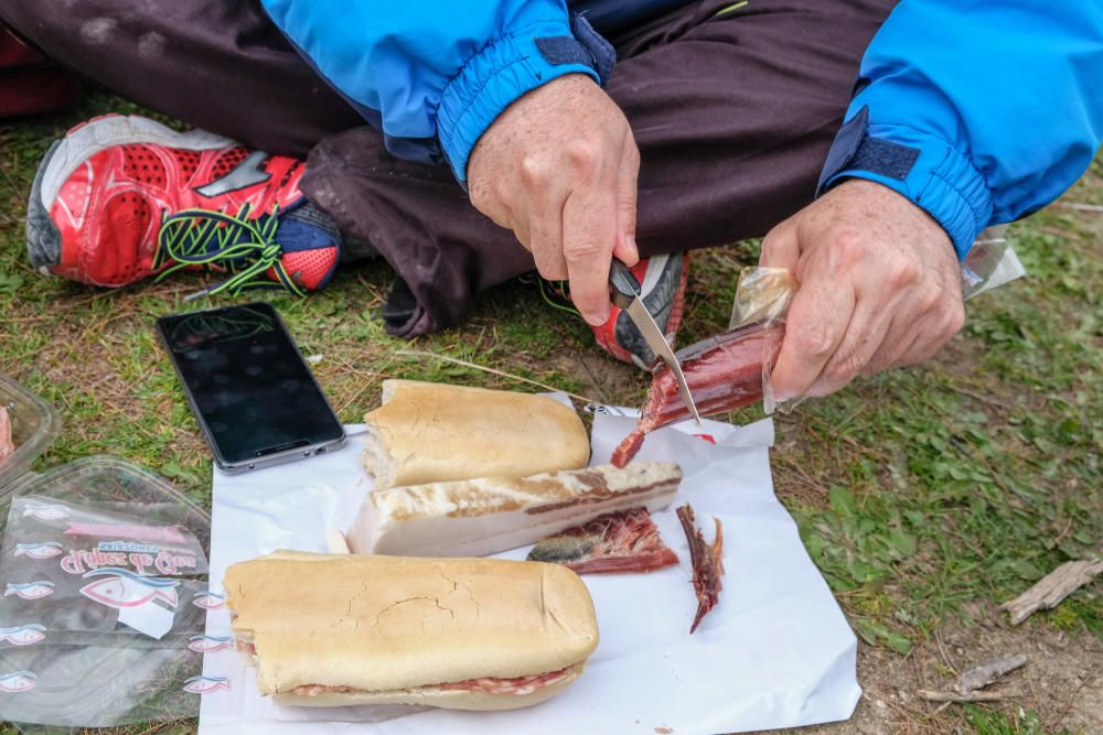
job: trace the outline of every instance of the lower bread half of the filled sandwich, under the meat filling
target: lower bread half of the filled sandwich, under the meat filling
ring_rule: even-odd
[[[341,692],[315,696],[277,694],[276,701],[292,706],[333,707],[355,704],[413,704],[441,707],[445,710],[520,710],[552,699],[569,687],[582,673],[586,664],[574,667],[569,675],[540,687],[527,694],[491,694],[483,691],[459,691],[425,687],[421,689],[395,690],[389,692]]]

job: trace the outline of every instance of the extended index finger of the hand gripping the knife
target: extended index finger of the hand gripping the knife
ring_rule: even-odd
[[[571,192],[563,208],[563,255],[570,298],[595,326],[609,318],[609,263],[615,238],[615,180],[597,179]]]

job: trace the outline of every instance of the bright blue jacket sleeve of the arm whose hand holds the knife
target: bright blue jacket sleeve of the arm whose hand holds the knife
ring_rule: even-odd
[[[565,74],[603,83],[613,50],[565,0],[263,0],[314,69],[382,130],[387,149],[467,179],[483,131]]]

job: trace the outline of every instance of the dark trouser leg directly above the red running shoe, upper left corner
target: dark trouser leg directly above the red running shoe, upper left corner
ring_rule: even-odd
[[[364,125],[251,0],[3,0],[0,20],[143,107],[269,153],[304,158]]]

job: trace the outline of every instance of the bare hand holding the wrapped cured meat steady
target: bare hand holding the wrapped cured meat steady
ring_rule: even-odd
[[[887,186],[850,180],[781,223],[760,263],[801,282],[771,375],[779,399],[934,355],[965,321],[945,230]]]

